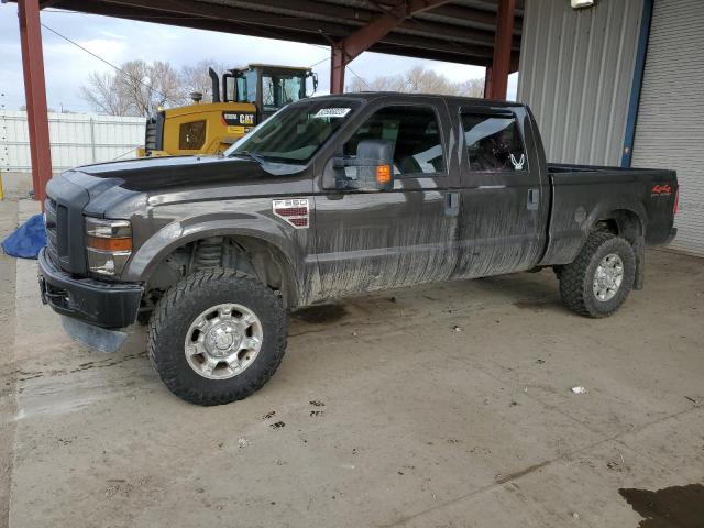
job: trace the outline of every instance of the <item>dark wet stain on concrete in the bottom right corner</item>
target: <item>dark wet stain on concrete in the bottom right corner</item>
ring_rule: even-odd
[[[704,527],[704,485],[672,486],[651,492],[620,488],[618,493],[644,520],[638,528]]]

